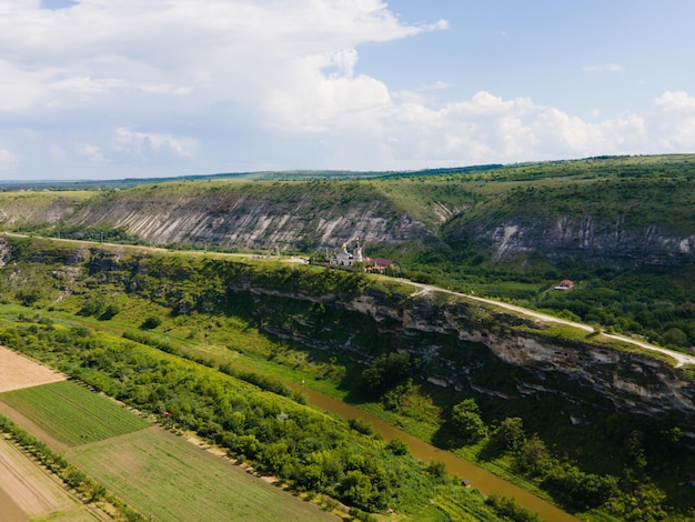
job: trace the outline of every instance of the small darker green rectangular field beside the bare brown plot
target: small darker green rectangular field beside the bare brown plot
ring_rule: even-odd
[[[73,446],[142,430],[145,420],[105,396],[63,381],[0,394],[56,439]]]

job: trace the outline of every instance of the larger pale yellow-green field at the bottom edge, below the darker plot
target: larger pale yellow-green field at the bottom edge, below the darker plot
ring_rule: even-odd
[[[157,428],[74,448],[66,456],[157,521],[338,520]]]

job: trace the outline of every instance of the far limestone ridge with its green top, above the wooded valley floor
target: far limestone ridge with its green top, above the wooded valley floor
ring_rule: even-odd
[[[695,263],[695,157],[449,172],[7,192],[0,193],[0,227],[75,239],[303,252],[360,237],[372,249],[404,257],[425,252],[425,264],[450,254],[515,267],[535,260],[614,268]]]

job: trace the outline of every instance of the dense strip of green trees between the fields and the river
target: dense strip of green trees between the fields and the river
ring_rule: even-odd
[[[0,328],[0,342],[172,429],[194,430],[299,490],[323,492],[360,510],[412,506],[419,495],[461,488],[442,470],[433,473],[412,459],[402,442],[373,436],[361,420],[351,421],[350,431],[296,402],[131,340],[42,321]],[[494,518],[479,500],[471,509],[490,510],[485,516]]]

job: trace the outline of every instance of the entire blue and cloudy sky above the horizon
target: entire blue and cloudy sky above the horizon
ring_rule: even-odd
[[[692,0],[0,0],[0,180],[695,152]]]

